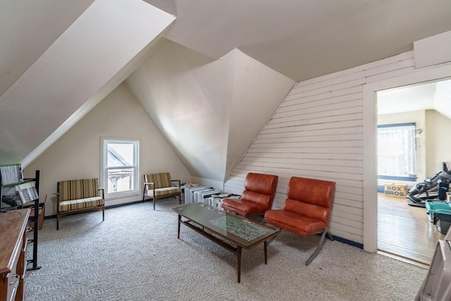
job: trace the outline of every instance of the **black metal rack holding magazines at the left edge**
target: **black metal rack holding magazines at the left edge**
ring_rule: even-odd
[[[22,164],[0,165],[0,214],[1,212],[15,209],[34,209],[35,214],[28,221],[33,223],[32,238],[27,239],[27,244],[32,243],[33,254],[27,259],[27,270],[40,269],[37,265],[37,242],[39,221],[39,171],[35,171],[35,178],[23,178]],[[1,216],[1,215],[0,215]]]

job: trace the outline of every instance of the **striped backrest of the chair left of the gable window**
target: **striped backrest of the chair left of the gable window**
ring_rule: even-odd
[[[99,196],[99,179],[63,180],[58,182],[60,201]]]

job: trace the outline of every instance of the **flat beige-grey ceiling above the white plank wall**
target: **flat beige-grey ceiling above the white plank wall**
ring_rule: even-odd
[[[177,16],[165,37],[219,59],[237,48],[301,81],[412,49],[451,29],[442,0],[145,0]]]

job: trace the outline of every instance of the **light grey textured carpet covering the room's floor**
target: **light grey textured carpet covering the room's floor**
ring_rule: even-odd
[[[25,300],[413,300],[427,270],[326,240],[283,231],[236,257],[182,225],[174,200],[133,204],[56,219],[39,231],[38,264]]]

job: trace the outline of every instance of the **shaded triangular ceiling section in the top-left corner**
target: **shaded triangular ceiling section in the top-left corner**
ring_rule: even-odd
[[[0,96],[92,2],[0,1]]]

